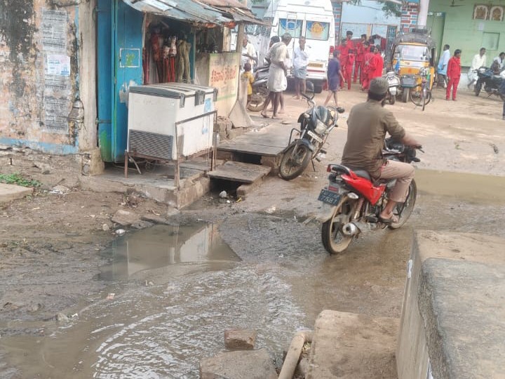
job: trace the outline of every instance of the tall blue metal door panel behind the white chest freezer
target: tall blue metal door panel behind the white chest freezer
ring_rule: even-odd
[[[142,13],[122,0],[98,0],[98,138],[104,161],[123,161],[128,88],[142,84]]]

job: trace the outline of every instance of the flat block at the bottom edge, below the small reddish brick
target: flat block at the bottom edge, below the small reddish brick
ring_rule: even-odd
[[[267,350],[223,352],[200,362],[201,379],[276,379]]]

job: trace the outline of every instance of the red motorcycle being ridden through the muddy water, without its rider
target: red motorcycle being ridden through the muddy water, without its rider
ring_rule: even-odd
[[[420,161],[414,147],[395,142],[392,138],[386,140],[383,156],[406,163]],[[344,251],[361,233],[385,227],[401,227],[414,209],[417,195],[415,180],[410,182],[405,202],[393,209],[398,222],[385,223],[379,215],[387,203],[387,194],[395,185],[395,179],[373,181],[367,171],[351,170],[341,164],[329,164],[328,172],[328,185],[321,189],[318,197],[324,203],[323,213],[316,219],[323,222],[321,239],[331,254]]]

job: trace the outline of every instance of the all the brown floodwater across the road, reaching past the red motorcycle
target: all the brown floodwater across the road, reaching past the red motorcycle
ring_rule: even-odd
[[[0,338],[10,367],[0,376],[198,378],[200,359],[224,350],[227,328],[255,329],[256,346],[280,366],[292,335],[313,328],[322,310],[399,317],[413,227],[505,237],[503,178],[416,178],[421,190],[405,227],[363,235],[334,256],[320,225],[287,213],[224,217],[217,207],[208,212],[219,222],[127,233],[95,278],[107,288],[65,310],[67,323],[1,325],[39,333]],[[447,182],[457,185],[450,191]]]

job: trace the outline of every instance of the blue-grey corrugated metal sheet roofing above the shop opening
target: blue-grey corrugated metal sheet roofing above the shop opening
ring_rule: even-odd
[[[137,11],[165,15],[187,22],[223,24],[230,22],[220,11],[193,0],[123,0]]]

